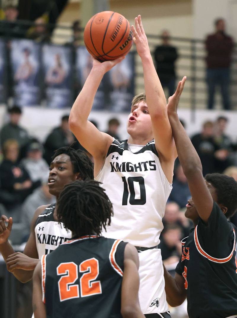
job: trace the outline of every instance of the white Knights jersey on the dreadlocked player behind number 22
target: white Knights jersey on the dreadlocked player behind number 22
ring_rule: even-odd
[[[71,231],[67,231],[63,223],[54,220],[54,209],[55,204],[51,204],[36,220],[35,238],[39,258],[71,239]]]

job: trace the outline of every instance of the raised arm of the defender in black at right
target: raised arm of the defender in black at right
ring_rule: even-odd
[[[207,222],[213,208],[213,198],[202,175],[200,158],[185,129],[179,121],[177,108],[186,77],[179,82],[176,92],[169,98],[167,110],[180,164],[187,178],[189,190],[200,218]]]

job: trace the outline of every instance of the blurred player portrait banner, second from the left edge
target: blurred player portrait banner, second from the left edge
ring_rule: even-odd
[[[31,40],[12,40],[10,61],[14,102],[18,106],[40,104],[41,46]]]

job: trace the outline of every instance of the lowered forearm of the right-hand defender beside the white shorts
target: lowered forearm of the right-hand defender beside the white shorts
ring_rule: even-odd
[[[166,267],[164,268],[164,278],[165,278],[165,291],[166,291],[166,301],[172,307],[177,307],[181,305],[184,301],[183,292],[180,290],[176,283],[176,280],[168,273]]]

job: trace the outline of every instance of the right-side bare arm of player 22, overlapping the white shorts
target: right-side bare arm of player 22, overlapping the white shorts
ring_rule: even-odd
[[[124,251],[124,273],[121,294],[121,314],[123,318],[145,318],[138,299],[139,258],[136,248],[127,244]]]

